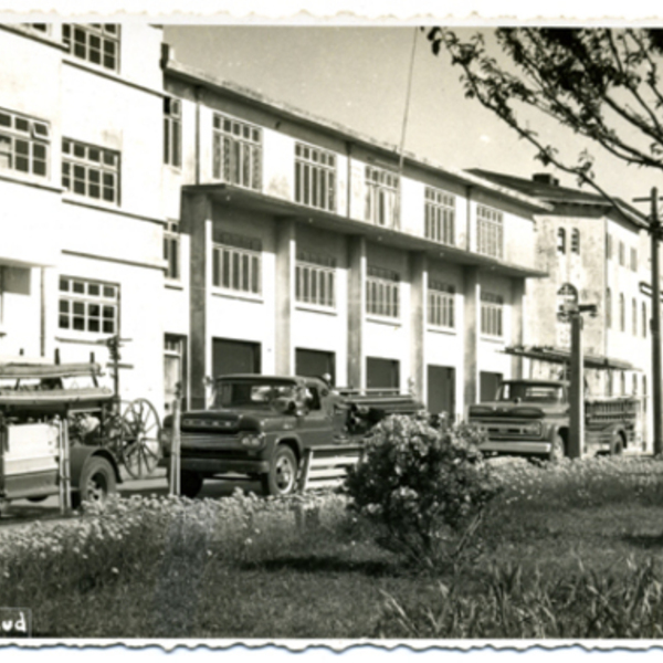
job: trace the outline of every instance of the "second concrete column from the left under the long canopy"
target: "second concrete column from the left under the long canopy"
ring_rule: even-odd
[[[283,219],[276,225],[276,373],[290,376],[294,371],[292,319],[295,299],[296,229],[293,219]]]

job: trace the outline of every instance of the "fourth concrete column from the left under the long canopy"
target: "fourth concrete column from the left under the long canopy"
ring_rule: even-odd
[[[410,254],[410,373],[417,398],[427,401],[425,312],[428,260],[425,253]]]

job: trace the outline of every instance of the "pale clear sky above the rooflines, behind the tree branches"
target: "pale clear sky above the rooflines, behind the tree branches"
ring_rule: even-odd
[[[473,31],[457,29],[464,35]],[[165,25],[165,41],[185,64],[394,146],[401,143],[414,49],[408,151],[448,168],[483,168],[525,178],[555,172],[534,159],[534,147],[513,129],[464,97],[460,69],[445,53],[434,56],[417,28]],[[547,118],[532,116],[530,122],[571,160],[588,146],[597,159],[597,180],[611,194],[631,202],[649,196],[653,186],[663,190],[656,173],[627,167]],[[577,186],[573,177],[555,175],[565,186]],[[649,212],[646,204],[636,207]]]

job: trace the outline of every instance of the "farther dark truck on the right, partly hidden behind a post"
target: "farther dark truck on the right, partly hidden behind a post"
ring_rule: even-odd
[[[486,454],[538,455],[557,461],[568,455],[569,383],[506,380],[496,399],[470,407],[470,423],[488,436]],[[636,398],[586,398],[581,453],[620,454],[635,442]]]

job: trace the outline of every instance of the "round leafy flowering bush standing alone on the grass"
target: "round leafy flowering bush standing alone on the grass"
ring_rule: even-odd
[[[402,415],[372,429],[345,488],[350,507],[379,526],[379,545],[417,566],[455,568],[498,490],[477,450],[482,434]]]

